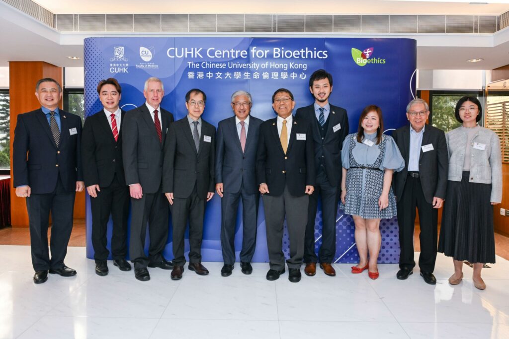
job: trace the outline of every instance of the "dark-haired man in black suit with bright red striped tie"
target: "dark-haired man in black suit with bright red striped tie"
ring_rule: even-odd
[[[122,163],[122,124],[125,116],[125,111],[119,107],[122,87],[115,78],[108,78],[99,82],[97,93],[103,109],[85,120],[81,156],[92,210],[95,271],[98,275],[106,275],[109,255],[106,230],[110,214],[113,221],[113,264],[122,271],[131,270],[131,265],[125,259],[129,188],[126,186]]]

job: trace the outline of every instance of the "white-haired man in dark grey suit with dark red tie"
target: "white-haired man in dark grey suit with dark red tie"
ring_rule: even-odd
[[[148,281],[147,266],[173,268],[162,255],[168,238],[168,205],[161,190],[163,145],[173,114],[159,106],[164,87],[158,78],[147,79],[143,95],[147,102],[125,114],[122,157],[131,196],[129,256],[134,263],[136,279]],[[150,234],[148,257],[144,251],[147,221]]]

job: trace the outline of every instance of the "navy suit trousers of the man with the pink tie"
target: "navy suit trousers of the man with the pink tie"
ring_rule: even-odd
[[[242,199],[242,250],[241,262],[251,262],[256,247],[258,204],[260,194],[247,194],[243,185],[239,192],[224,192],[221,199],[221,249],[223,262],[235,263],[235,226],[239,200]]]

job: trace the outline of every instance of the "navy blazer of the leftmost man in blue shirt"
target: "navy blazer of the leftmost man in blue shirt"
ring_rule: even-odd
[[[42,109],[18,115],[13,143],[13,185],[29,185],[32,193],[51,193],[60,178],[67,192],[83,180],[81,118],[59,109],[60,145],[56,147]],[[70,130],[76,129],[71,135]]]

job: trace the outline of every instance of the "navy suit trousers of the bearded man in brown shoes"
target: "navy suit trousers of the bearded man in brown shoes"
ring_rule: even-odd
[[[327,179],[327,174],[320,171],[317,175],[315,191],[309,196],[309,208],[307,212],[306,235],[304,240],[304,262],[331,263],[336,254],[336,216],[339,190],[332,186]],[[318,198],[322,201],[322,245],[315,254],[315,219],[317,215]]]

